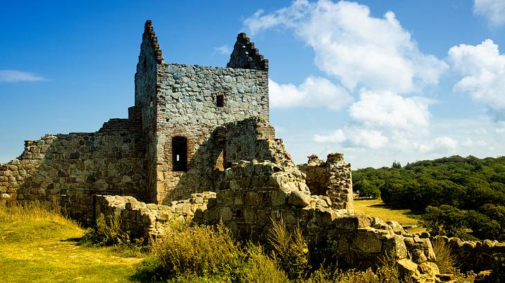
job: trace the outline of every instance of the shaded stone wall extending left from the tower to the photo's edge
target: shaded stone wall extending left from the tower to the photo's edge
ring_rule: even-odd
[[[71,133],[26,141],[23,154],[0,166],[9,199],[59,202],[92,217],[92,195],[110,191],[145,199],[143,139],[131,133]]]

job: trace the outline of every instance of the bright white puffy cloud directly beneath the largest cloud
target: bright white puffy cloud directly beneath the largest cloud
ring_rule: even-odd
[[[392,92],[362,91],[360,101],[349,108],[349,116],[367,126],[419,130],[430,124],[427,99],[405,98]]]

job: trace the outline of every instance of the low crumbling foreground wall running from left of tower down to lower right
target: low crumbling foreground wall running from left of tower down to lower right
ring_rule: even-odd
[[[367,268],[392,256],[401,271],[417,278],[439,273],[428,235],[410,235],[397,222],[331,208],[329,197],[309,193],[296,166],[240,161],[226,169],[225,175],[217,193],[194,194],[167,206],[107,197],[97,211],[119,214],[125,231],[140,231],[137,235],[144,238],[163,234],[169,219],[179,219],[223,223],[239,240],[261,244],[268,243],[273,222],[282,219],[290,233],[300,227],[311,253],[327,264]]]

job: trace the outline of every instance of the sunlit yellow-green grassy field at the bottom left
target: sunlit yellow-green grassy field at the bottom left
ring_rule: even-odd
[[[141,258],[81,246],[82,235],[57,213],[0,207],[0,282],[131,282]]]

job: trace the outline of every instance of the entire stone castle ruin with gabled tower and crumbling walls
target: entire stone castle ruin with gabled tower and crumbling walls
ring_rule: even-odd
[[[300,227],[313,251],[349,266],[393,255],[417,278],[439,273],[428,236],[355,215],[341,153],[294,164],[269,124],[268,60],[240,33],[226,68],[167,64],[145,23],[135,106],[95,133],[46,135],[0,165],[3,203],[58,202],[83,221],[116,214],[131,237],[174,219],[223,222],[266,242],[273,221]]]

